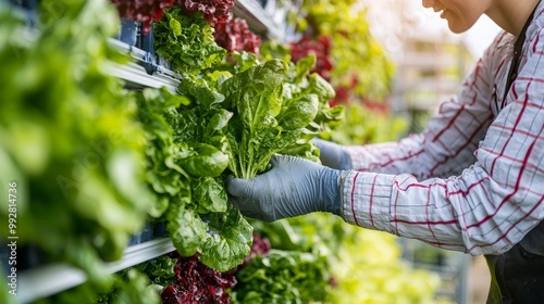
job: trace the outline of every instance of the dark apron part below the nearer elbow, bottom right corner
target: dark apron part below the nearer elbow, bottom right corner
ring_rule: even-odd
[[[487,304],[544,303],[544,220],[500,255],[486,255],[491,271]]]

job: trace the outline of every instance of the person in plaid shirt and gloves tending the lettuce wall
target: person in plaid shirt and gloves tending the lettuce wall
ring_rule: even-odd
[[[423,0],[453,33],[502,29],[428,127],[397,142],[319,140],[323,165],[287,155],[231,202],[273,221],[330,212],[346,223],[484,255],[487,303],[544,303],[544,2]]]

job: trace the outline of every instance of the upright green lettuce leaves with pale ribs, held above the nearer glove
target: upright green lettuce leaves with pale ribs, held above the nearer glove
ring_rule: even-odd
[[[280,126],[282,83],[287,64],[271,60],[234,75],[222,84],[227,109],[236,111],[228,125],[230,169],[237,177],[255,177],[268,165],[270,157],[296,142],[301,132]],[[317,100],[316,100],[317,103]],[[311,105],[310,105],[311,106]],[[317,104],[306,118],[311,122]],[[307,122],[301,127],[306,127]]]

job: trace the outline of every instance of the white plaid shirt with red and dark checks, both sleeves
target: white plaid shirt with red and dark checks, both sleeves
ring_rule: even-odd
[[[544,218],[544,2],[526,37],[503,109],[507,33],[423,132],[347,148],[347,223],[477,255],[507,251]]]

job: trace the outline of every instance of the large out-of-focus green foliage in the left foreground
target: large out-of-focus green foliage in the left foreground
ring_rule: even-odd
[[[18,245],[104,283],[102,262],[122,256],[152,205],[134,97],[104,73],[127,61],[108,45],[119,16],[104,0],[40,1],[39,30],[32,30],[7,8],[0,4],[0,180],[17,183]]]

